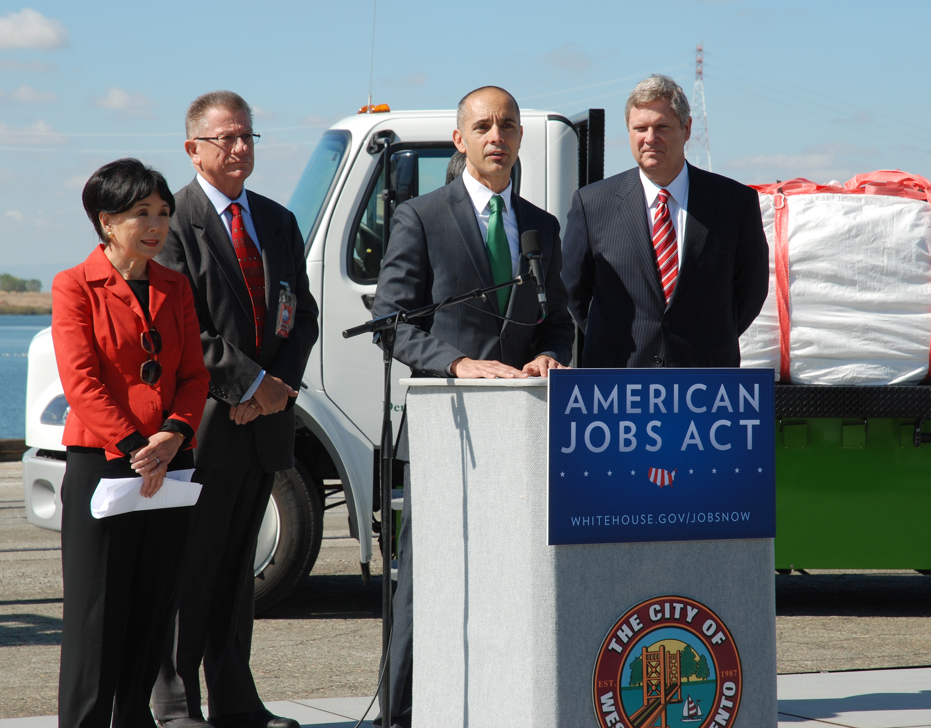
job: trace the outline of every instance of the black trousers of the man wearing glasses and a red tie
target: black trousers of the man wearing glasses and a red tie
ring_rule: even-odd
[[[173,644],[152,694],[155,717],[201,718],[204,663],[211,717],[263,708],[249,667],[255,613],[255,542],[275,481],[254,446],[230,467],[198,468]]]

